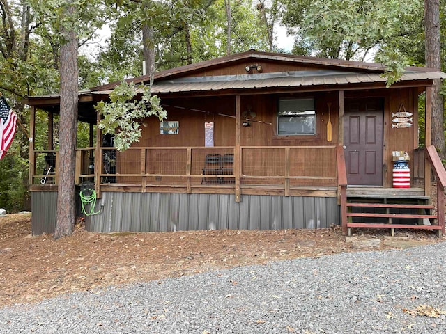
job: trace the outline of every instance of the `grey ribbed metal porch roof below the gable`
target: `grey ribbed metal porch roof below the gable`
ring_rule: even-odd
[[[443,72],[406,71],[399,81],[445,79]],[[385,83],[386,78],[378,73],[357,73],[339,71],[297,71],[271,74],[244,74],[215,77],[188,77],[155,82],[151,92],[185,93],[212,90],[250,88],[288,88],[304,86],[324,86],[339,84]]]

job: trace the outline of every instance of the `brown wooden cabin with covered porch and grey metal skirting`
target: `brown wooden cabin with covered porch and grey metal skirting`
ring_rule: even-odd
[[[96,127],[94,109],[118,83],[80,92],[78,124],[89,138],[78,138],[75,182],[79,192],[96,196],[77,203],[86,230],[342,225],[344,234],[357,228],[444,233],[444,212],[436,207],[444,207],[446,176],[431,145],[429,101],[433,80],[446,74],[408,67],[386,88],[384,72],[376,63],[255,50],[157,72],[151,93],[167,118],[141,120],[141,140],[124,152]],[[148,85],[150,78],[128,81]],[[427,99],[425,109],[420,98]],[[25,102],[31,106],[32,230],[52,233],[60,99]],[[36,143],[41,119],[47,141]],[[431,200],[433,180],[438,202]]]

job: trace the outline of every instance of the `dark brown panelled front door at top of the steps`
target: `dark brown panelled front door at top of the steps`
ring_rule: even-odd
[[[349,185],[383,185],[383,100],[346,100],[344,154]]]

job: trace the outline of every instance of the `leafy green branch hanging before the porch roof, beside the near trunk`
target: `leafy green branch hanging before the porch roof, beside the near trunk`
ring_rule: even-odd
[[[139,93],[142,93],[141,100],[134,100]],[[134,83],[127,84],[123,81],[110,93],[109,103],[101,101],[95,106],[103,117],[98,127],[106,134],[115,134],[116,150],[124,151],[141,138],[139,122],[144,118],[157,116],[163,120],[167,117],[160,102],[159,97],[151,96],[148,86],[140,86],[137,89]]]

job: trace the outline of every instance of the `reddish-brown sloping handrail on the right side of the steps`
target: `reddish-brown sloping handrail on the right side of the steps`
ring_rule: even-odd
[[[437,221],[441,226],[441,232],[445,233],[445,187],[446,187],[446,170],[443,166],[438,152],[433,145],[426,146],[426,159],[431,165],[431,169],[437,179]]]

